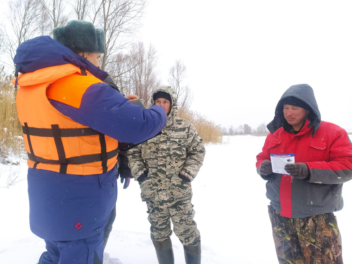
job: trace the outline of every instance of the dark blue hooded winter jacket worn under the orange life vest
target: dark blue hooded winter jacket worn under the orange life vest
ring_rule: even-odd
[[[23,42],[17,49],[14,63],[23,74],[71,63],[100,80],[108,76],[49,36]],[[132,105],[105,83],[88,87],[78,108],[49,101],[72,120],[121,142],[143,142],[155,136],[166,124],[166,113],[162,107],[142,109]],[[29,168],[27,180],[30,227],[34,234],[45,240],[62,241],[103,232],[117,199],[115,169],[82,176]]]

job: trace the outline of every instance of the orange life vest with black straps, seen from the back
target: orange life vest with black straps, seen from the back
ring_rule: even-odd
[[[83,72],[84,74],[84,72]],[[13,81],[14,82],[14,81]],[[111,170],[118,141],[63,115],[48,99],[80,107],[87,88],[102,82],[73,64],[20,74],[16,104],[30,168],[90,175]]]

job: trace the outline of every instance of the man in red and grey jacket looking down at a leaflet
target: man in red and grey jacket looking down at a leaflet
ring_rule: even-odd
[[[352,176],[352,144],[341,127],[321,121],[313,89],[291,86],[268,124],[257,172],[266,180],[279,263],[342,263],[333,212],[342,209],[342,184]],[[275,173],[270,155],[294,154]],[[320,262],[322,261],[322,262]]]

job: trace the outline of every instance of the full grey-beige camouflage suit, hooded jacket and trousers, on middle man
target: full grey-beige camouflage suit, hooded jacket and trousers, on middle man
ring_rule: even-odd
[[[191,204],[191,183],[183,181],[178,175],[192,181],[202,165],[205,148],[194,125],[176,117],[175,91],[162,86],[154,93],[159,91],[171,96],[171,112],[166,126],[158,136],[128,151],[128,165],[135,180],[145,171],[148,172],[139,184],[142,201],[147,203],[151,239],[168,239],[172,234],[171,219],[182,245],[197,245],[200,233],[193,220],[195,211]]]

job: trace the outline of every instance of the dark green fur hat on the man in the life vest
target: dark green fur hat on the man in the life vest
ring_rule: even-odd
[[[54,39],[73,52],[105,52],[104,31],[96,29],[93,23],[71,20],[66,26],[55,27]]]

